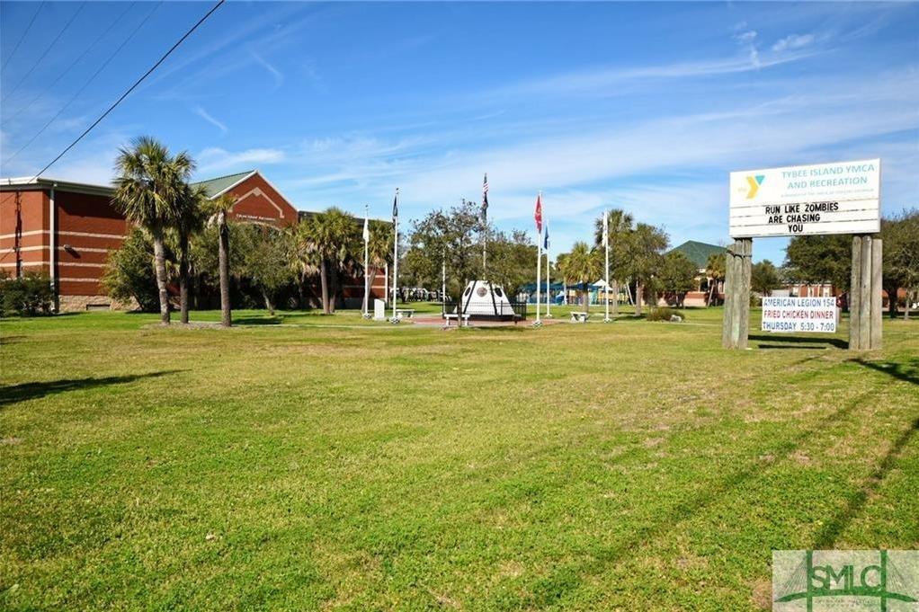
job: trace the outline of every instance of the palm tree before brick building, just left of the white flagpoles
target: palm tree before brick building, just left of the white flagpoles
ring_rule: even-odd
[[[355,251],[358,235],[354,218],[335,207],[313,215],[298,228],[298,250],[312,255],[319,265],[325,314],[335,311],[335,304],[329,299],[329,273],[332,273],[332,281],[335,282],[338,269]]]

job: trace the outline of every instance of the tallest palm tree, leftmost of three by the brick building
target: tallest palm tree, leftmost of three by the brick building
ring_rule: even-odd
[[[115,160],[115,208],[125,218],[145,228],[153,238],[156,287],[160,295],[160,320],[169,324],[166,289],[165,231],[175,226],[180,199],[195,163],[187,153],[170,155],[163,144],[140,136],[130,147],[119,149]]]

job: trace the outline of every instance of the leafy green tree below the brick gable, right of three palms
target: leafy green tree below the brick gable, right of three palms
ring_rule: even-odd
[[[269,314],[275,313],[278,291],[294,280],[290,261],[293,235],[270,225],[240,224],[243,276],[262,294]]]

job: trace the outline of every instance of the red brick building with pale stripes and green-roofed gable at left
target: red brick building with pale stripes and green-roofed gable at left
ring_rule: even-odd
[[[298,211],[258,170],[201,181],[210,198],[236,198],[235,221],[288,227]],[[108,252],[119,248],[128,223],[111,203],[114,188],[52,178],[0,179],[0,271],[21,276],[45,272],[57,288],[58,309],[121,308],[101,285]],[[371,298],[385,295],[377,274]],[[363,278],[343,279],[346,305],[363,298]],[[355,303],[357,301],[357,304]]]

